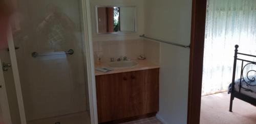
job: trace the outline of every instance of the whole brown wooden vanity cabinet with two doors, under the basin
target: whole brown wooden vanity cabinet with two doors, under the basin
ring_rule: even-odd
[[[159,110],[159,68],[96,76],[98,120],[108,122]]]

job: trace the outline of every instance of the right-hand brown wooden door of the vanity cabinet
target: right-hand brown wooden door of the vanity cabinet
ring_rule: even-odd
[[[127,84],[125,117],[133,117],[159,110],[159,69],[131,72]]]

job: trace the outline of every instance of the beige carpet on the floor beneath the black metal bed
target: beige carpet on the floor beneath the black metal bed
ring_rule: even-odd
[[[230,94],[227,92],[202,97],[200,124],[255,124],[256,107],[234,98],[233,112],[229,112]]]

